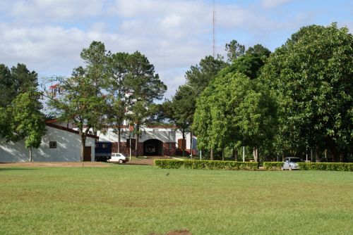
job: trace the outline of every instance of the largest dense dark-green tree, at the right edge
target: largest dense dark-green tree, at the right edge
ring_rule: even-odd
[[[328,149],[335,160],[352,153],[353,37],[346,27],[311,25],[292,34],[263,68],[277,92],[277,145],[293,154]]]

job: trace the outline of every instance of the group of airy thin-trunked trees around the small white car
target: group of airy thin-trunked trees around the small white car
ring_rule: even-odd
[[[56,81],[61,92],[49,100],[49,105],[56,117],[73,121],[78,127],[81,160],[90,129],[96,134],[112,127],[119,136],[120,152],[121,128],[126,121],[133,127],[138,149],[141,127],[157,113],[154,101],[162,99],[167,90],[154,66],[138,51],[111,53],[102,42],[92,42],[80,56],[85,67],[74,69],[70,78]]]

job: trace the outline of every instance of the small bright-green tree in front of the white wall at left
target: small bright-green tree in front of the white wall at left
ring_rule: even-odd
[[[18,94],[8,107],[11,110],[11,141],[25,141],[32,162],[32,148],[39,148],[45,134],[44,115],[40,112],[42,103],[37,91]]]

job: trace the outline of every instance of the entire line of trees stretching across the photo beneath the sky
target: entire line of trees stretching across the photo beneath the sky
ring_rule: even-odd
[[[157,105],[167,87],[143,54],[112,53],[92,42],[80,53],[85,66],[56,81],[59,95],[46,96],[56,117],[78,127],[81,158],[90,129],[114,128],[120,146],[127,120],[137,149],[141,127],[155,119],[177,125],[183,139],[196,134],[198,148],[212,160],[225,149],[237,157],[240,146],[251,148],[255,160],[259,152],[261,158],[309,150],[317,160],[322,153],[335,161],[352,156],[353,37],[347,28],[303,27],[273,53],[236,40],[226,50],[226,59],[206,56],[191,66],[186,83]],[[37,74],[25,65],[0,65],[0,76],[1,136],[39,146],[44,116]]]

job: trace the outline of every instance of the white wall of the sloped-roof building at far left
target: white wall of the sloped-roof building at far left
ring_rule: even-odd
[[[56,148],[49,148],[49,141],[56,141]],[[47,133],[42,137],[40,148],[32,149],[35,162],[79,162],[80,135],[62,129],[47,126]],[[91,146],[91,160],[95,160],[95,139],[87,137],[86,146]],[[16,143],[0,139],[0,162],[28,162],[29,149],[24,141]]]

